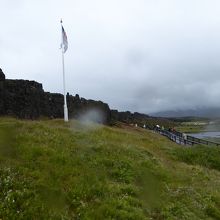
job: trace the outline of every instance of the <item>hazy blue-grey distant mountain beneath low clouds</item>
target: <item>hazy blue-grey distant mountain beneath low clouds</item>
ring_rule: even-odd
[[[185,110],[161,111],[150,114],[155,117],[204,117],[204,118],[220,118],[220,107],[215,108],[196,108]]]

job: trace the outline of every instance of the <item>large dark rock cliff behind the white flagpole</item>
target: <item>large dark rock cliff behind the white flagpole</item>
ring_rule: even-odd
[[[67,94],[67,105],[70,118],[88,115],[92,121],[110,123],[109,106],[101,101]],[[42,84],[35,81],[5,79],[0,69],[0,115],[25,119],[63,118],[63,95],[45,92]]]

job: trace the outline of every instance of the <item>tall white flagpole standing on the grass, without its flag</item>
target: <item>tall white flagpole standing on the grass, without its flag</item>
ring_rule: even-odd
[[[63,35],[62,35],[62,20],[60,21],[61,24],[61,53],[62,53],[62,64],[63,64],[63,98],[64,98],[64,105],[63,105],[63,112],[64,112],[64,121],[69,121],[68,119],[68,108],[67,108],[67,101],[66,101],[66,83],[65,83],[65,65],[64,65],[64,44],[63,44]]]

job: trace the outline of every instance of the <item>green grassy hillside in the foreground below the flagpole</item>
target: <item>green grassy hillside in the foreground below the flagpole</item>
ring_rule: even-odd
[[[220,219],[220,150],[125,125],[0,118],[0,219]]]

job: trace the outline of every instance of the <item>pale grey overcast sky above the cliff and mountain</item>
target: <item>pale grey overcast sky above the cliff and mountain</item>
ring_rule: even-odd
[[[112,109],[220,106],[219,0],[0,0],[0,68]]]

